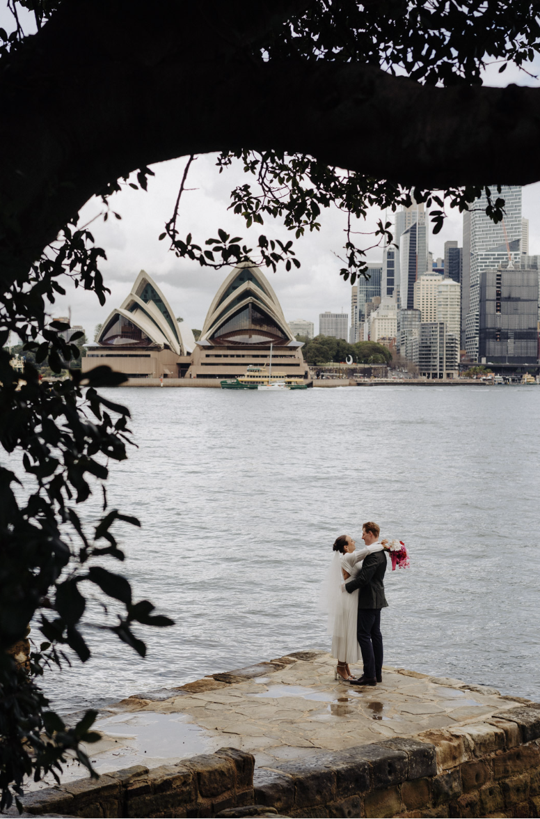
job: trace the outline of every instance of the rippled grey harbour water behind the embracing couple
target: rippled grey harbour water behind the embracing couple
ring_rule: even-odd
[[[108,392],[140,447],[109,482],[142,521],[124,571],[176,625],[145,660],[92,636],[47,682],[59,707],[327,647],[331,543],[370,519],[412,554],[386,574],[385,661],[540,699],[540,388]]]

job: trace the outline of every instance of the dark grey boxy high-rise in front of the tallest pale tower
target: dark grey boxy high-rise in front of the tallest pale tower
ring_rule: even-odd
[[[537,364],[538,271],[509,265],[479,278],[479,362]]]

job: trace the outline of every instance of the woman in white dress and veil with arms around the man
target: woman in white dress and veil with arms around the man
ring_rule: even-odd
[[[356,577],[362,568],[362,560],[368,554],[385,549],[385,541],[356,550],[356,543],[349,535],[340,535],[335,539],[332,549],[334,558],[323,586],[323,608],[328,613],[328,634],[332,635],[331,656],[338,661],[335,669],[335,680],[353,680],[349,663],[358,663],[361,659],[357,639],[358,589],[352,594],[341,590],[343,581]]]

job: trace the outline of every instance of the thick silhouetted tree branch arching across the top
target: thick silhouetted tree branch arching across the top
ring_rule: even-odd
[[[177,156],[275,148],[424,188],[540,179],[540,89],[263,61],[260,38],[304,3],[258,5],[236,0],[223,19],[217,0],[161,0],[151,14],[142,0],[65,0],[0,66],[6,283],[92,194]]]

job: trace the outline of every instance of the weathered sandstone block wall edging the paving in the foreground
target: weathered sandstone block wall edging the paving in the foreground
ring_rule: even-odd
[[[234,817],[263,808],[288,817],[540,817],[540,704],[256,771],[250,753],[221,749],[59,785],[24,804],[72,817]]]

